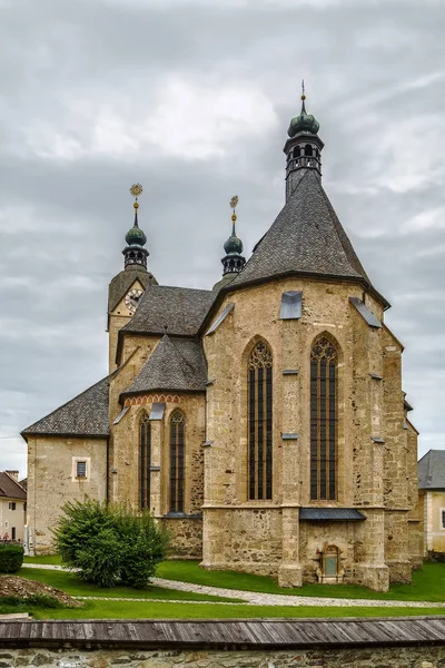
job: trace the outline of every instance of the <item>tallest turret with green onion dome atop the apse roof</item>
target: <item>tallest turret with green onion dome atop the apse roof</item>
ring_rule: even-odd
[[[294,193],[303,174],[308,169],[322,178],[322,150],[324,144],[318,137],[319,122],[306,111],[305,81],[301,81],[301,110],[290,120],[284,151],[286,164],[286,199]],[[301,174],[303,171],[303,174]]]

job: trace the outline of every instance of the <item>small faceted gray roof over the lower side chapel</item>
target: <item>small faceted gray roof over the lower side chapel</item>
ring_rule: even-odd
[[[165,335],[123,394],[152,390],[204,391],[206,381],[207,365],[201,342],[172,340]]]

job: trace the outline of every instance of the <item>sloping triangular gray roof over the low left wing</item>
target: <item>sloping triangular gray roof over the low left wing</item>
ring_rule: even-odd
[[[115,372],[116,373],[116,372]],[[115,374],[102,379],[75,399],[56,409],[21,433],[31,434],[103,436],[109,434],[109,386]]]

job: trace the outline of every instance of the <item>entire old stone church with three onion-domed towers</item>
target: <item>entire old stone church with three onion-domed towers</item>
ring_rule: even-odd
[[[85,495],[149,509],[172,557],[283,587],[386,591],[422,566],[403,345],[322,185],[319,124],[284,147],[286,200],[211,289],[159,285],[135,224],[108,296],[109,372],[22,432],[30,552]]]

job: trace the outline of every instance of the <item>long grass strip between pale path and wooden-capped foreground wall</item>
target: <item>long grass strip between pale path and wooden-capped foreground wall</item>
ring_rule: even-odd
[[[31,610],[30,610],[31,611]],[[314,617],[409,617],[443,615],[441,608],[320,608],[289,606],[218,606],[202,603],[140,603],[85,601],[82,608],[32,610],[37,619],[257,619]]]

